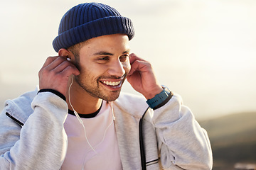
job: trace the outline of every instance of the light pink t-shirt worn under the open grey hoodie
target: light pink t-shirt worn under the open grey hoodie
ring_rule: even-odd
[[[81,118],[85,132],[75,115],[68,114],[64,128],[68,135],[68,151],[62,170],[122,169],[117,136],[114,130],[110,103],[103,101],[100,112],[94,118]]]

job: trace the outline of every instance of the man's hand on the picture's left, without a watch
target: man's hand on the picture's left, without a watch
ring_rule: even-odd
[[[48,57],[38,73],[39,89],[53,89],[65,96],[72,74],[77,76],[80,72],[66,57]]]

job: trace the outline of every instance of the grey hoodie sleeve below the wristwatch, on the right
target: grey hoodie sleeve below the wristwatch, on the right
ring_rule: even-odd
[[[164,169],[212,169],[213,158],[206,130],[201,128],[190,109],[174,95],[166,105],[154,111]]]

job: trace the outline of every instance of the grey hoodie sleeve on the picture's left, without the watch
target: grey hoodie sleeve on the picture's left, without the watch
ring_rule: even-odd
[[[5,111],[1,113],[1,121],[6,121],[0,125],[0,169],[60,169],[68,145],[63,126],[68,106],[62,98],[44,92],[31,107],[33,113],[23,128]]]

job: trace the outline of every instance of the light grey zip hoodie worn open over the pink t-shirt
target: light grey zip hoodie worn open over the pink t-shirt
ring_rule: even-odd
[[[63,127],[68,105],[53,93],[37,93],[5,103],[0,114],[1,170],[61,169],[68,146]],[[146,169],[212,168],[206,130],[178,95],[153,111],[144,98],[121,94],[113,108],[123,169],[142,169],[142,152]]]

